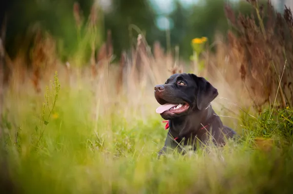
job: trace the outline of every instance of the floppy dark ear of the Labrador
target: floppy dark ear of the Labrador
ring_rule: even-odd
[[[218,96],[218,90],[214,88],[205,78],[192,74],[197,84],[196,105],[198,110],[206,108],[209,103]]]

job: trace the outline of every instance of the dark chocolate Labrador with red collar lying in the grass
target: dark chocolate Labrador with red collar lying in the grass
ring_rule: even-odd
[[[169,128],[164,147],[159,158],[167,151],[182,149],[213,142],[216,146],[225,145],[225,140],[235,137],[236,132],[223,125],[210,105],[218,96],[218,90],[205,78],[192,73],[171,75],[165,84],[154,88],[155,98],[161,105],[156,112],[167,120]],[[211,140],[211,141],[210,141]]]

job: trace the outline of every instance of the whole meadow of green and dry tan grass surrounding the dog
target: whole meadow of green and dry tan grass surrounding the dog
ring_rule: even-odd
[[[189,62],[180,60],[178,49],[166,53],[159,43],[147,45],[143,35],[130,53],[122,53],[118,64],[107,50],[110,42],[85,67],[79,66],[82,46],[64,64],[47,34],[37,39],[31,68],[25,68],[21,54],[6,58],[13,71],[3,86],[0,190],[292,193],[292,15],[290,20],[285,12],[266,25],[244,16],[233,20],[226,9],[240,33],[216,35],[214,43],[201,42],[201,50],[193,41],[190,49],[195,53]],[[277,19],[288,21],[288,37],[271,31]],[[196,73],[218,88],[212,106],[239,134],[236,141],[158,159],[167,131],[155,112],[159,104],[153,88],[175,72]]]

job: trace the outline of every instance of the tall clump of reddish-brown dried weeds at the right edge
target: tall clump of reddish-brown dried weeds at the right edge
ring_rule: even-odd
[[[280,107],[293,105],[293,42],[292,42],[292,13],[285,8],[284,17],[274,11],[270,1],[267,5],[267,22],[262,19],[264,10],[255,0],[249,0],[255,8],[256,16],[245,17],[239,14],[236,19],[232,9],[226,6],[226,16],[236,32],[229,33],[230,58],[238,63],[241,80],[251,94],[254,105],[261,106],[269,103],[277,95],[279,82],[281,87],[277,96]],[[290,14],[291,13],[291,14]],[[255,21],[257,20],[257,22]],[[259,23],[259,24],[257,24]],[[289,36],[291,36],[291,38]],[[280,80],[285,61],[288,69]],[[240,67],[239,67],[240,65]],[[291,96],[290,96],[291,95]]]

